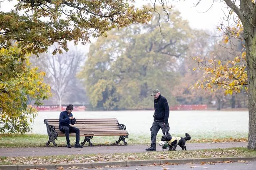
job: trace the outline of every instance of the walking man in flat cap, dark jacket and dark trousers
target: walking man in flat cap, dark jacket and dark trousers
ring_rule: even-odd
[[[147,151],[156,151],[156,140],[159,129],[162,129],[164,135],[170,135],[169,130],[169,105],[167,99],[160,94],[158,89],[154,89],[151,96],[154,96],[154,121],[151,131],[151,147],[147,148]],[[166,134],[165,134],[166,133]]]

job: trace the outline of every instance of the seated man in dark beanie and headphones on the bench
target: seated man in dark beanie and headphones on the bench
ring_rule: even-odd
[[[74,117],[72,115],[72,111],[74,109],[74,106],[72,104],[67,105],[66,111],[62,111],[60,113],[60,124],[59,124],[59,129],[60,131],[64,132],[66,135],[66,140],[67,140],[67,148],[71,148],[70,145],[70,133],[75,132],[76,133],[76,143],[75,143],[75,148],[83,148],[82,145],[80,145],[79,140],[80,140],[80,130],[74,126],[70,126],[71,124],[75,124]]]

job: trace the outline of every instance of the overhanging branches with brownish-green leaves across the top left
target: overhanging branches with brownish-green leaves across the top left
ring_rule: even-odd
[[[8,0],[11,1],[11,0]],[[18,0],[15,10],[0,12],[0,45],[17,41],[22,52],[46,52],[54,43],[56,52],[67,50],[67,41],[86,44],[116,28],[146,23],[151,12],[132,5],[134,0]]]

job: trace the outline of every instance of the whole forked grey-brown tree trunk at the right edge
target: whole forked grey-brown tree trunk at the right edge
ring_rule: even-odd
[[[256,150],[256,6],[249,0],[240,0],[240,8],[234,1],[224,0],[238,15],[244,27],[246,64],[249,87],[249,136],[248,149]]]

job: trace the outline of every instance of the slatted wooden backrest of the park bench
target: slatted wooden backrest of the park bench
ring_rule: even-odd
[[[47,119],[49,125],[55,126],[55,130],[59,133],[59,119]],[[76,119],[75,126],[80,131],[117,131],[119,130],[119,123],[116,118],[102,118],[102,119]]]

